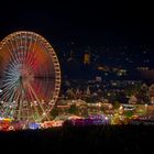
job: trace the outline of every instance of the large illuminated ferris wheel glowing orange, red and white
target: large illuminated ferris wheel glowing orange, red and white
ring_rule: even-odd
[[[0,43],[0,117],[50,120],[61,89],[59,63],[41,35],[20,31]]]

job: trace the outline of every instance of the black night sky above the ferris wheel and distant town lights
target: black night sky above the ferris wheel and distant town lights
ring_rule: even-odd
[[[8,1],[0,6],[0,40],[29,30],[55,44],[153,44],[153,4],[123,1]]]

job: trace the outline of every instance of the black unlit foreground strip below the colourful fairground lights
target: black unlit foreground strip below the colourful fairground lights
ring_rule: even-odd
[[[154,127],[65,125],[47,130],[0,132],[1,151],[50,153],[142,152],[153,150]]]

